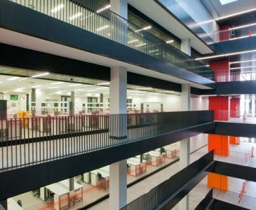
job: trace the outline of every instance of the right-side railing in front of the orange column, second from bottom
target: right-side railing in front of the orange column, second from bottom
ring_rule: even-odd
[[[256,168],[254,151],[252,151],[252,153],[240,153],[215,149],[214,160]]]

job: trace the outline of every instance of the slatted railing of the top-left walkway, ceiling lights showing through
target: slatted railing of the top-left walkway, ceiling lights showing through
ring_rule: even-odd
[[[93,0],[10,0],[213,80],[214,72]],[[180,72],[182,74],[182,71]]]

